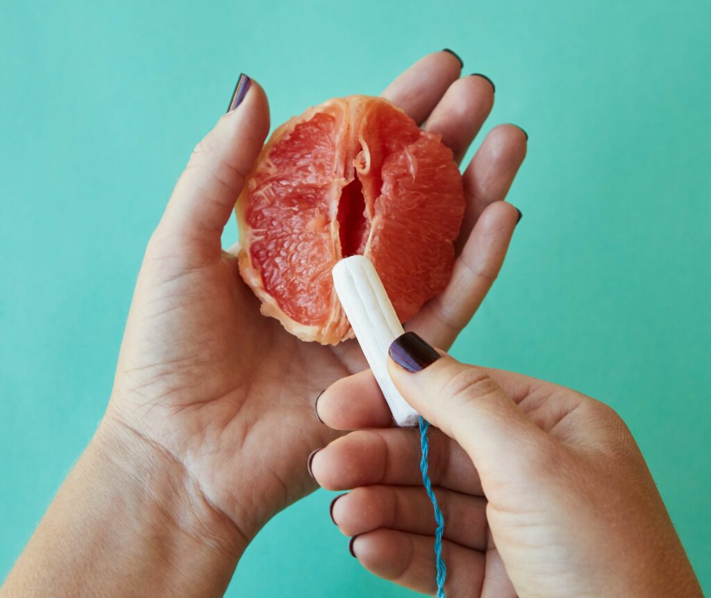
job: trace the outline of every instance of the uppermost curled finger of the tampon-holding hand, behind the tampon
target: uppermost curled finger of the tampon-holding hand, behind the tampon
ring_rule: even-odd
[[[316,415],[333,430],[388,428],[394,425],[390,408],[370,369],[341,378],[316,401]]]

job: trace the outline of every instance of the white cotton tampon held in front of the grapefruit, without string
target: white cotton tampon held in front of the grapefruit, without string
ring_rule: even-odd
[[[395,423],[417,425],[419,414],[405,402],[387,374],[387,349],[405,331],[378,272],[368,258],[347,257],[333,266],[333,284]]]

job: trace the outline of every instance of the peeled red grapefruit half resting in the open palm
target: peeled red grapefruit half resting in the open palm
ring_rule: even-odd
[[[331,268],[373,262],[402,322],[447,285],[464,215],[461,175],[439,135],[387,100],[328,100],[274,131],[237,199],[240,273],[307,341],[353,333]]]

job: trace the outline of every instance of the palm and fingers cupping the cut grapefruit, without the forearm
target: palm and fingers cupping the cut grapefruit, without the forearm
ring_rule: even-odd
[[[493,104],[489,82],[460,78],[460,69],[450,53],[433,53],[383,93],[442,134],[458,161]],[[262,317],[235,256],[220,246],[268,130],[267,98],[252,82],[193,151],[146,249],[103,424],[177,464],[184,482],[176,491],[224,523],[191,533],[230,550],[316,488],[306,457],[339,434],[316,418],[316,397],[365,366],[354,342],[304,343]],[[496,127],[466,168],[453,278],[409,326],[440,346],[468,322],[501,267],[518,221],[501,200],[525,145],[518,127]]]

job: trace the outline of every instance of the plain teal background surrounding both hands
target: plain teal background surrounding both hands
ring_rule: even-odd
[[[508,263],[454,352],[614,406],[711,589],[710,22],[688,0],[4,0],[0,575],[102,415],[146,240],[239,72],[278,124],[447,46],[496,82],[483,132],[530,135]],[[330,498],[269,523],[228,596],[411,595],[348,555]]]

